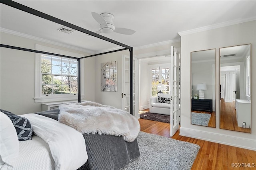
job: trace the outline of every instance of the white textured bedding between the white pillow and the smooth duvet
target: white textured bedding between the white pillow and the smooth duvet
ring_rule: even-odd
[[[34,135],[32,140],[19,141],[19,156],[13,162],[14,170],[54,170],[54,160],[49,145]],[[12,169],[4,164],[1,170]]]

